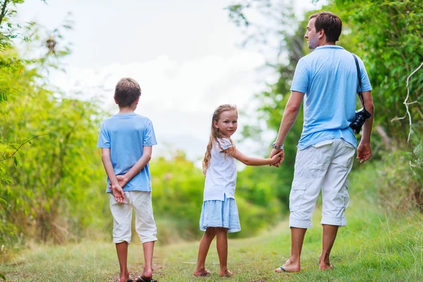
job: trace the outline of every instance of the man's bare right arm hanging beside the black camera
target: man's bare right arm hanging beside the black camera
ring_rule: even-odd
[[[372,135],[373,114],[374,114],[372,92],[371,91],[363,92],[363,99],[364,99],[364,105],[366,106],[366,110],[370,114],[372,114],[372,116],[370,118],[367,118],[366,121],[364,121],[362,139],[357,148],[357,159],[361,160],[360,164],[364,163],[364,161],[367,161],[369,157],[372,155],[372,147],[370,145],[370,135]]]

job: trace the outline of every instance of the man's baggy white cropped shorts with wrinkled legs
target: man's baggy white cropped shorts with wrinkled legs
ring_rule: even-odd
[[[312,227],[316,200],[323,197],[321,224],[345,226],[350,203],[348,174],[353,167],[355,147],[341,139],[326,140],[299,150],[289,196],[289,226]]]

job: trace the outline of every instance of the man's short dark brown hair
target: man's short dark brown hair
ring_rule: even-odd
[[[309,17],[309,20],[312,18],[316,18],[316,21],[314,22],[316,32],[324,30],[327,42],[337,42],[339,40],[339,35],[341,35],[342,31],[341,18],[331,12],[314,13]]]

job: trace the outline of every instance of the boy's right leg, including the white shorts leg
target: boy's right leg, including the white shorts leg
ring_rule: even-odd
[[[153,277],[154,242],[157,228],[152,207],[152,192],[131,191],[131,204],[135,209],[135,226],[144,250],[144,271],[141,278],[149,281]]]

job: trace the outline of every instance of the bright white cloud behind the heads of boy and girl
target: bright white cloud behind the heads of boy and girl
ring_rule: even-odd
[[[66,73],[51,75],[51,83],[68,94],[82,92],[84,99],[97,97],[104,101],[104,109],[116,113],[116,82],[123,77],[134,78],[142,88],[136,112],[153,121],[159,152],[168,152],[170,146],[183,149],[190,159],[196,159],[204,154],[216,106],[237,104],[240,110],[246,107],[253,94],[264,87],[257,71],[263,64],[262,55],[249,51],[240,51],[228,59],[205,56],[182,63],[158,56],[152,61],[125,65],[71,67]]]

